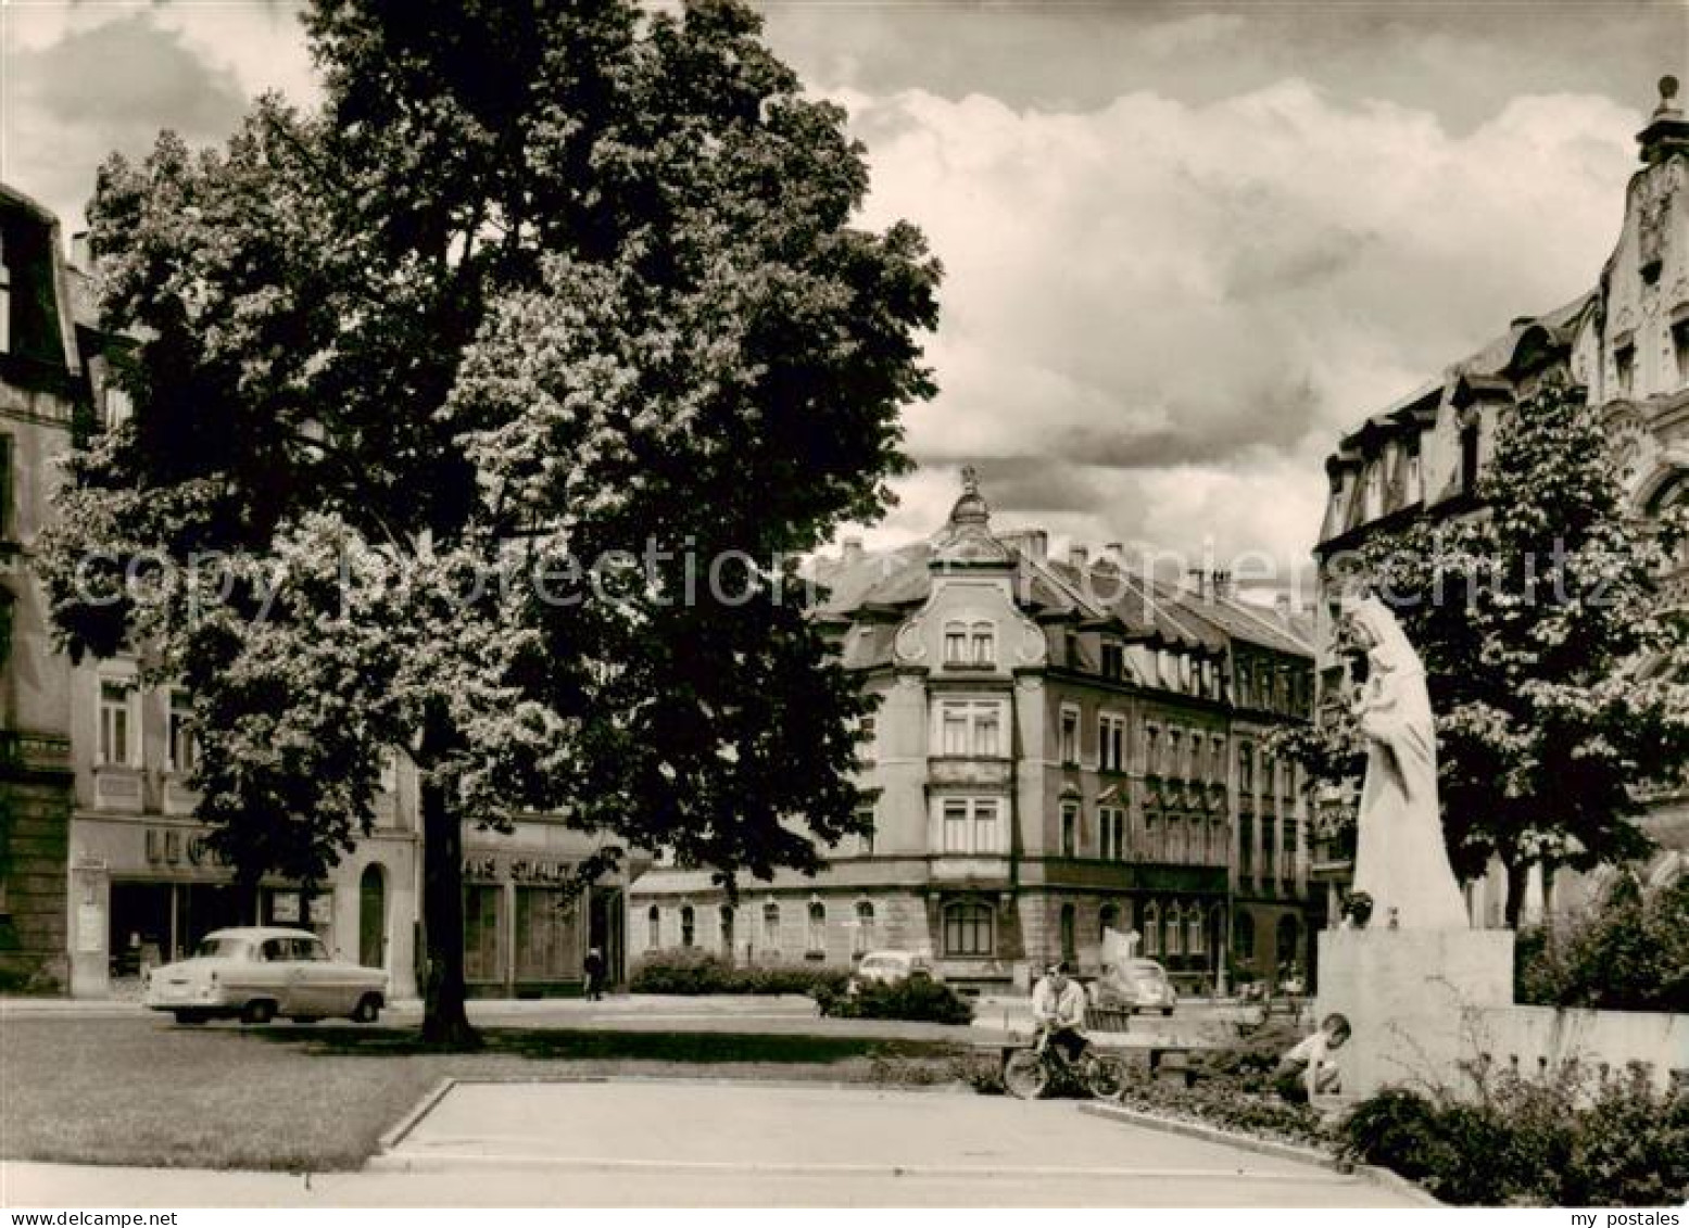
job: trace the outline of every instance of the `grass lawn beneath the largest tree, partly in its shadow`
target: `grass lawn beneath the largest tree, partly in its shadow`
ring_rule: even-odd
[[[486,1029],[483,1037],[481,1052],[449,1054],[405,1029],[12,1017],[0,1027],[0,1157],[351,1169],[446,1076],[934,1083],[971,1052],[851,1035]]]

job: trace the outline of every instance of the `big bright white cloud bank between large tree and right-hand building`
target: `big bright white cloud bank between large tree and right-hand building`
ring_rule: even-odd
[[[1081,113],[841,101],[870,149],[865,220],[919,223],[946,265],[942,392],[907,426],[949,493],[910,480],[875,537],[931,532],[973,459],[1013,471],[1008,519],[1284,559],[1312,544],[1338,432],[1593,285],[1640,123],[1529,96],[1451,135],[1295,79]]]

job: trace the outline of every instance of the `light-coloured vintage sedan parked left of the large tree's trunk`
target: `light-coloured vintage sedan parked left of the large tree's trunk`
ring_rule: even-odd
[[[387,1003],[387,973],[331,959],[307,929],[218,929],[191,959],[147,975],[145,1003],[169,1010],[177,1024],[269,1024],[277,1015],[301,1024],[329,1015],[373,1024]]]

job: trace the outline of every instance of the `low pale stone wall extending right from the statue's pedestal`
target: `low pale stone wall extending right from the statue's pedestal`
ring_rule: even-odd
[[[1547,1074],[1566,1062],[1596,1079],[1643,1062],[1659,1088],[1689,1084],[1689,1015],[1645,1010],[1559,1010],[1554,1007],[1471,1007],[1473,1056],[1495,1069]]]

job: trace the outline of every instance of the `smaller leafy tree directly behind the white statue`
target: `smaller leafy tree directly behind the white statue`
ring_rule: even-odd
[[[1336,561],[1426,662],[1449,853],[1463,878],[1500,858],[1508,924],[1534,863],[1588,870],[1652,846],[1647,792],[1689,762],[1689,657],[1659,586],[1684,527],[1681,510],[1632,512],[1599,409],[1547,383],[1502,417],[1476,510]],[[1339,782],[1356,740],[1329,721],[1285,750]]]

